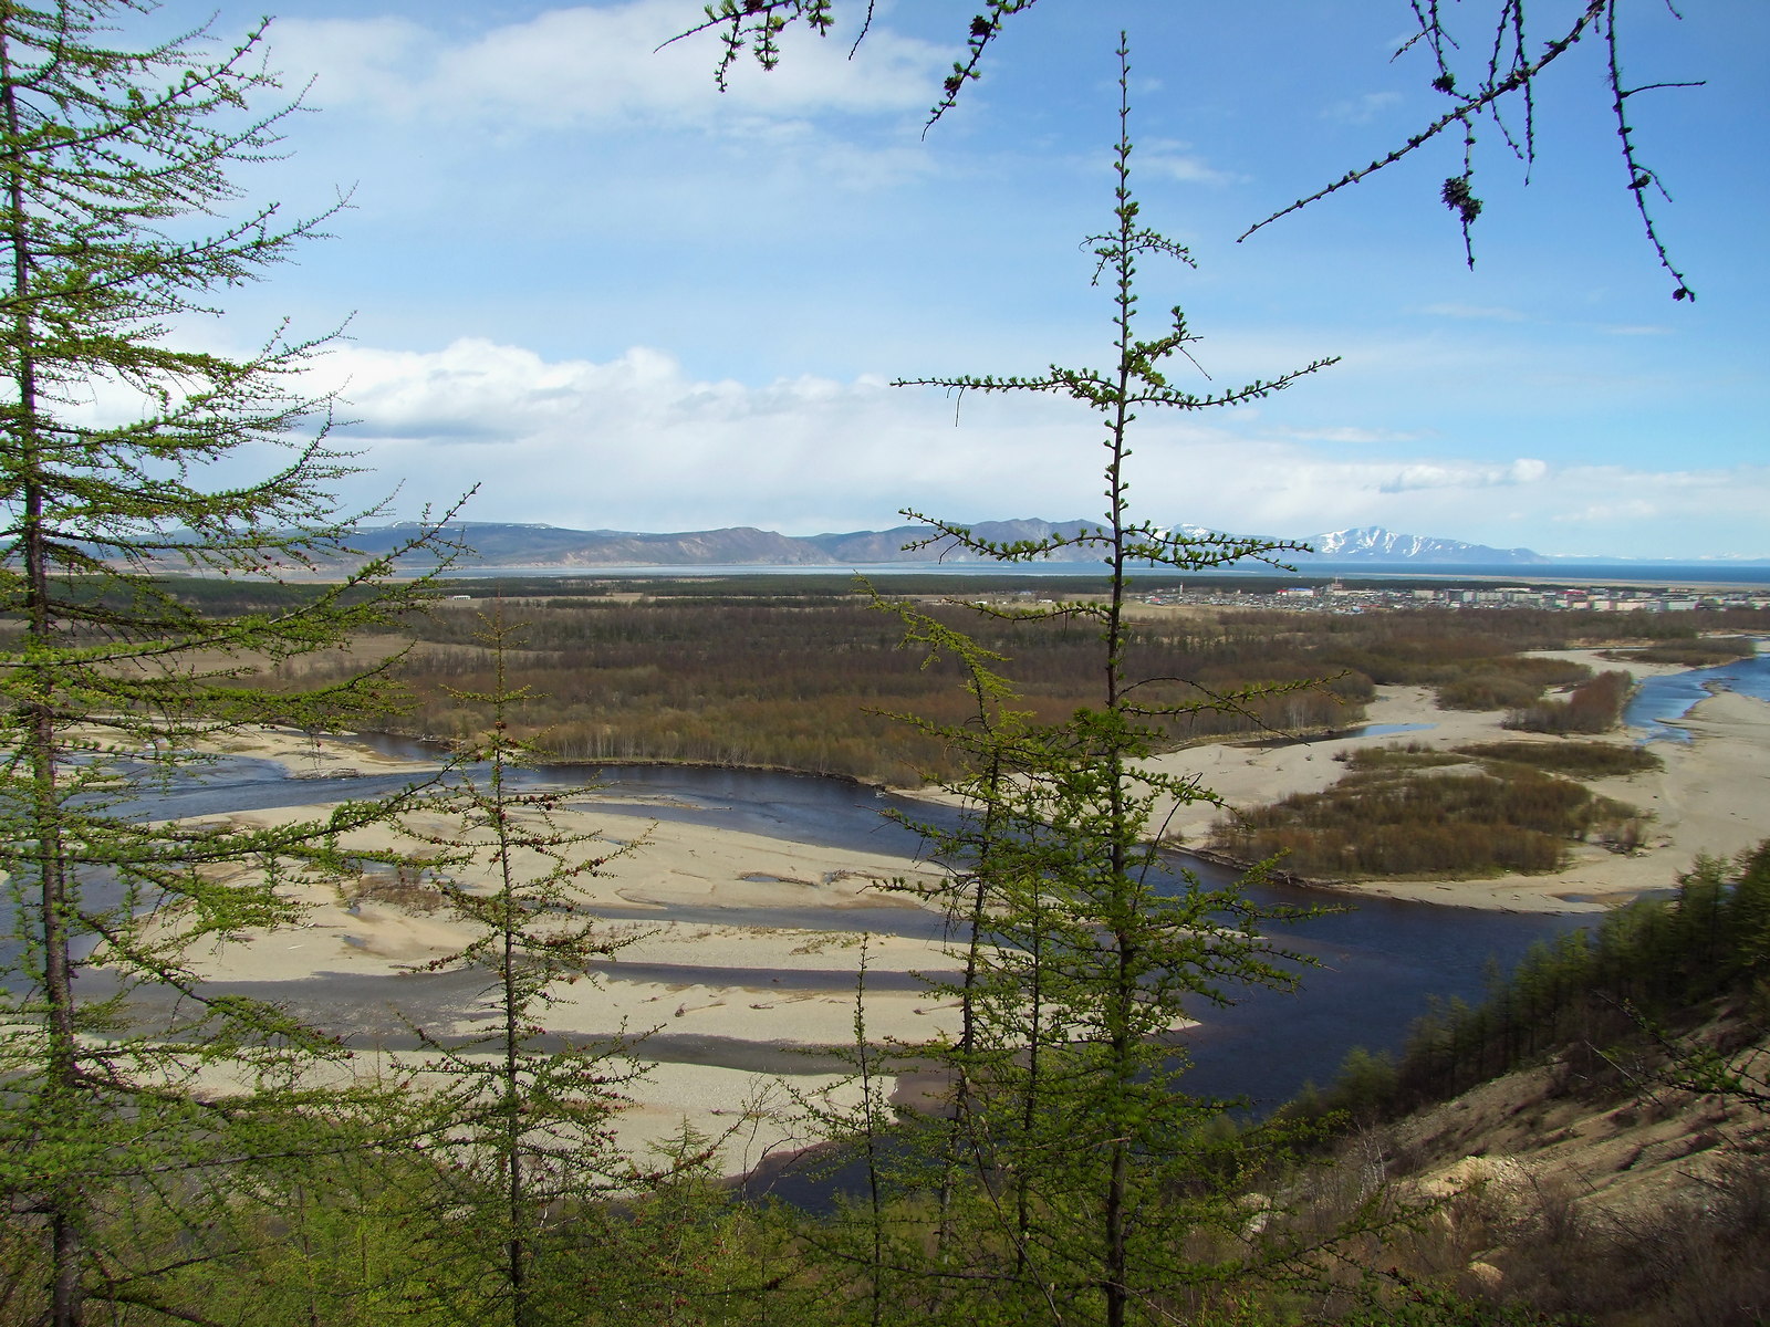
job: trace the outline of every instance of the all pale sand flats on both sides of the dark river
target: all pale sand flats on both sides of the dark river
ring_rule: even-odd
[[[1618,667],[1584,658],[1597,667]],[[1657,669],[1630,665],[1630,671],[1641,676]],[[1494,713],[1439,711],[1425,688],[1382,688],[1368,722],[1411,731],[1285,747],[1197,747],[1163,756],[1156,764],[1197,777],[1234,809],[1326,787],[1345,768],[1333,759],[1338,750],[1388,741],[1455,747],[1520,736],[1504,733]],[[1386,881],[1356,888],[1476,908],[1595,911],[1667,886],[1697,853],[1729,855],[1770,835],[1765,812],[1770,704],[1715,695],[1683,727],[1692,743],[1653,745],[1664,770],[1597,784],[1604,794],[1653,814],[1648,846],[1632,856],[1582,848],[1574,867],[1556,876]],[[285,733],[228,738],[228,752],[278,761],[297,777],[389,770],[419,775],[434,768],[356,743]],[[635,809],[643,810],[632,802],[621,807]],[[304,807],[241,812],[232,819],[262,825],[313,814],[315,809]],[[1179,807],[1168,828],[1198,840],[1216,814],[1209,803]],[[657,1058],[664,1060],[628,1088],[632,1106],[616,1125],[621,1145],[639,1150],[680,1132],[687,1118],[708,1134],[729,1131],[724,1164],[738,1171],[765,1152],[802,1141],[805,1131],[795,1118],[793,1093],[830,1090],[839,1076],[830,1072],[827,1056],[802,1062],[795,1051],[853,1040],[860,932],[775,925],[770,918],[791,913],[804,918],[802,909],[816,909],[823,918],[834,915],[839,927],[841,917],[857,908],[912,909],[919,906],[915,899],[887,886],[897,879],[929,885],[935,872],[908,858],[809,848],[708,825],[650,823],[614,814],[611,800],[598,793],[573,796],[561,812],[561,826],[596,835],[586,844],[589,853],[616,853],[573,890],[584,909],[620,913],[607,924],[609,941],[620,947],[609,963],[598,964],[596,980],[559,989],[545,1024],[575,1040],[651,1033]],[[386,828],[361,840],[363,848],[396,844]],[[485,871],[481,863],[481,886],[490,883]],[[370,1007],[382,1010],[379,1026],[395,1032],[402,1019],[455,1039],[483,1028],[487,1005],[471,977],[448,984],[437,975],[419,975],[427,964],[457,952],[467,931],[442,911],[373,894],[350,897],[333,885],[301,886],[306,913],[299,927],[255,932],[212,948],[198,955],[198,968],[214,982],[250,984],[255,994],[287,996],[301,1009],[324,1010],[349,993],[358,1028],[377,1024],[375,1017],[365,1017]],[[666,917],[671,908],[694,908],[696,920]],[[717,915],[710,918],[706,909]],[[929,996],[913,977],[949,968],[952,959],[936,943],[871,936],[867,1033],[915,1040],[950,1032],[952,1007]],[[389,1044],[395,1042],[398,1037],[391,1035]]]

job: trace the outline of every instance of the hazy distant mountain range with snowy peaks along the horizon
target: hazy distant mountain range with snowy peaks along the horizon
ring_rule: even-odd
[[[981,520],[972,531],[997,543],[1074,534],[1094,527],[1089,520]],[[373,525],[352,543],[365,552],[382,552],[412,533],[412,524]],[[611,529],[563,529],[559,525],[519,525],[497,522],[460,522],[450,525],[474,550],[478,566],[876,566],[881,563],[982,563],[977,554],[956,548],[942,557],[935,548],[904,552],[906,543],[927,538],[924,525],[897,525],[885,531],[850,531],[844,534],[775,534],[738,525],[733,529],[689,531],[680,534],[641,534]],[[1198,525],[1175,525],[1179,534],[1209,534]],[[1439,540],[1423,534],[1395,534],[1379,525],[1310,534],[1299,543],[1315,552],[1287,554],[1296,564],[1331,563],[1363,566],[1552,566],[1565,561],[1529,548],[1490,548],[1481,543]],[[1097,564],[1097,554],[1064,548],[1051,563]]]

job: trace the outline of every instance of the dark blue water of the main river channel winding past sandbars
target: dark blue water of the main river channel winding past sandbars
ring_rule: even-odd
[[[434,748],[398,738],[375,738],[379,750],[432,759]],[[912,819],[952,823],[956,812],[871,787],[816,775],[690,766],[552,766],[522,775],[536,784],[595,782],[584,805],[600,814],[639,819],[687,821],[761,833],[825,848],[920,855],[920,839],[883,812]],[[202,787],[181,789],[156,802],[150,814],[218,814],[228,809],[335,802],[395,791],[409,782],[398,775],[370,779],[290,780],[262,761],[228,761],[209,773]],[[612,798],[612,800],[611,800]],[[623,802],[627,800],[627,802]],[[1232,876],[1220,867],[1191,867],[1204,885]],[[1168,888],[1186,888],[1184,863],[1175,860]],[[1260,886],[1251,897],[1274,908],[1342,906],[1340,895]],[[657,917],[657,911],[648,911]],[[678,913],[669,913],[676,917]],[[735,920],[733,913],[696,909],[683,920]],[[779,911],[773,925],[866,927],[897,934],[940,934],[942,918],[906,908]],[[1271,1106],[1292,1097],[1304,1083],[1333,1078],[1352,1046],[1397,1049],[1409,1024],[1425,1012],[1428,996],[1478,1001],[1490,963],[1515,964],[1531,943],[1554,940],[1581,924],[1577,917],[1501,913],[1469,908],[1370,899],[1317,915],[1276,931],[1278,940],[1315,966],[1303,968],[1303,991],[1287,994],[1239,989],[1235,1003],[1189,1010],[1202,1026],[1188,1035],[1191,1090],[1248,1097]]]

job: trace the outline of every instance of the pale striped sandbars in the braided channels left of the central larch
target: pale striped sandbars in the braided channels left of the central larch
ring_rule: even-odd
[[[396,770],[418,777],[430,768],[356,743],[322,738],[315,747],[273,731],[230,736],[227,750],[276,761],[297,777]],[[285,807],[227,819],[281,825],[324,810]],[[938,885],[936,871],[880,853],[648,821],[643,810],[644,803],[630,798],[586,791],[556,812],[563,832],[588,835],[581,855],[607,856],[572,883],[575,904],[614,920],[600,932],[609,955],[595,964],[593,980],[559,984],[543,1012],[549,1035],[561,1042],[655,1039],[664,1063],[623,1090],[630,1106],[614,1122],[625,1150],[639,1154],[680,1134],[687,1118],[703,1134],[729,1134],[724,1166],[736,1173],[805,1141],[795,1097],[857,1099],[832,1072],[837,1065],[827,1047],[855,1039],[862,940],[862,1012],[871,1039],[922,1040],[952,1028],[952,1009],[912,975],[952,966],[936,943],[843,929],[844,917],[860,917],[857,909],[867,909],[873,925],[880,924],[876,909],[922,909],[913,894],[894,886]],[[409,817],[405,828],[419,839],[458,835],[435,814]],[[411,851],[419,839],[375,826],[350,846]],[[542,863],[519,855],[517,867],[538,871]],[[455,874],[476,892],[494,883],[489,858]],[[388,885],[388,878],[370,878],[366,892],[331,881],[290,885],[303,906],[297,925],[209,945],[193,955],[193,966],[223,989],[290,1003],[320,1026],[327,1016],[342,1017],[331,1030],[354,1033],[354,1044],[377,1063],[416,1063],[412,1026],[458,1042],[483,1032],[490,1005],[478,978],[450,963],[471,941],[471,929],[421,890]],[[666,917],[671,909],[692,909],[697,920],[673,920]],[[804,925],[805,913],[818,913],[816,929]],[[802,924],[791,925],[793,918]],[[441,971],[427,971],[432,964]],[[641,1058],[653,1055],[643,1051]]]

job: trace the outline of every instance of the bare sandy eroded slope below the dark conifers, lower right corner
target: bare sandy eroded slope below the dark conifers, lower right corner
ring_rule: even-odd
[[[1742,1037],[1749,1040],[1738,1044]],[[1699,1030],[1761,1074],[1736,1012]],[[1386,1129],[1347,1161],[1430,1205],[1389,1256],[1466,1295],[1600,1327],[1720,1327],[1770,1308],[1770,1118],[1752,1090],[1674,1086],[1643,1047],[1570,1042]],[[1761,1079],[1758,1079],[1761,1086]]]

